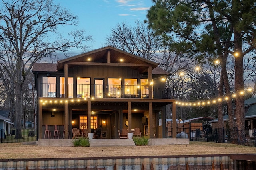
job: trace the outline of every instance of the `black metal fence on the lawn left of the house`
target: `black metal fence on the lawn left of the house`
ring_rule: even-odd
[[[36,129],[1,129],[0,142],[32,142],[37,141]]]

